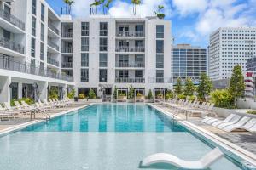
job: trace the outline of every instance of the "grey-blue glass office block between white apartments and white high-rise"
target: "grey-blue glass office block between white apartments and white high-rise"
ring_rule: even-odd
[[[193,47],[189,44],[177,44],[172,46],[172,79],[183,81],[187,77],[198,83],[201,73],[207,73],[207,49]]]

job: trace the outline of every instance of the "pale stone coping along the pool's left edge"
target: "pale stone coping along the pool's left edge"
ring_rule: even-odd
[[[96,103],[90,103],[88,105],[84,104],[82,106],[75,107],[75,108],[67,110],[67,111],[61,111],[60,113],[55,113],[55,114],[51,115],[50,118],[52,119],[52,118],[55,118],[55,117],[58,117],[58,116],[63,116],[63,115],[66,115],[67,113],[70,113],[72,111],[79,111],[79,109],[83,109],[83,108],[88,107],[90,105],[96,105]],[[15,125],[14,127],[5,128],[3,130],[0,130],[0,138],[5,136],[5,135],[8,135],[9,133],[15,133],[15,132],[17,132],[17,131],[19,131],[23,128],[30,127],[30,126],[38,124],[40,122],[45,122],[45,120],[33,120],[33,121],[30,121],[30,122],[24,122],[24,123],[21,123],[19,125]]]

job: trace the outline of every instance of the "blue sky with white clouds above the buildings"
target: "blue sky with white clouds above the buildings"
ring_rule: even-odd
[[[86,17],[94,0],[74,0],[72,14]],[[47,0],[61,14],[63,0]],[[113,0],[109,14],[129,16],[131,0]],[[206,48],[212,31],[224,26],[256,26],[256,0],[142,0],[139,13],[153,15],[165,6],[166,20],[172,20],[174,43],[191,43]]]

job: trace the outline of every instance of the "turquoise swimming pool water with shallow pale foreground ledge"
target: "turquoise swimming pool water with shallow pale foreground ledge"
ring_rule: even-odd
[[[91,105],[0,138],[0,169],[140,169],[156,152],[196,160],[212,150],[148,105]],[[157,165],[149,169],[177,169]],[[241,169],[222,158],[212,170]]]

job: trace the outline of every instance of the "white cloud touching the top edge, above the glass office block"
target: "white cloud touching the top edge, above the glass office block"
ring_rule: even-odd
[[[207,0],[173,0],[172,3],[182,16],[202,12],[207,8]]]

